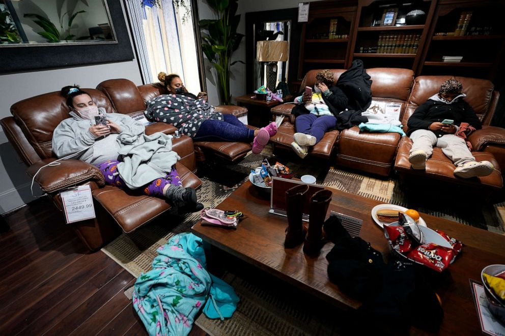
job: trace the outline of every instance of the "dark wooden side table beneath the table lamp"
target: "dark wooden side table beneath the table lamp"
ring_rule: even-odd
[[[272,119],[270,109],[274,106],[284,103],[280,103],[276,100],[267,102],[266,100],[258,100],[254,97],[254,94],[250,94],[235,97],[235,100],[239,106],[244,106],[247,108],[247,124],[256,127],[267,126]],[[293,96],[286,96],[283,98],[283,100],[285,103],[291,102],[293,100]]]

